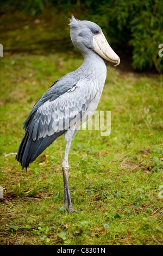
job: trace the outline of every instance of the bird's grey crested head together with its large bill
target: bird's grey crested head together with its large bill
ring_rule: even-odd
[[[91,21],[80,21],[72,15],[70,19],[70,36],[73,45],[84,53],[87,49],[96,52],[102,58],[120,64],[120,58],[112,50],[106,40],[101,27]]]

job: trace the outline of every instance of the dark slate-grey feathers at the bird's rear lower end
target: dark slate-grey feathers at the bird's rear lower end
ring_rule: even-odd
[[[21,163],[22,168],[28,168],[29,163],[32,163],[52,142],[61,136],[65,131],[55,132],[51,136],[39,138],[33,141],[32,136],[25,132],[20,147],[18,148],[16,160]]]

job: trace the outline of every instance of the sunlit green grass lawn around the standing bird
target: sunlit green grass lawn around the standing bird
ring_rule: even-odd
[[[111,134],[78,131],[69,155],[79,214],[63,206],[63,136],[27,172],[10,154],[36,100],[82,61],[73,52],[1,58],[1,245],[162,245],[162,75],[107,66],[97,110],[111,111]]]

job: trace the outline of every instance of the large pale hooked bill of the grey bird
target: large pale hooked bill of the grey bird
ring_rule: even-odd
[[[93,36],[93,44],[95,51],[99,54],[99,56],[109,60],[109,62],[116,63],[115,66],[120,64],[120,57],[118,57],[117,54],[112,50],[103,32]]]

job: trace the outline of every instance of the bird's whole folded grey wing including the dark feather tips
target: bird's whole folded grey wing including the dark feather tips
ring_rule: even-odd
[[[23,168],[27,169],[65,130],[76,125],[96,96],[93,84],[68,76],[56,81],[37,100],[24,121],[25,134],[16,155]]]

